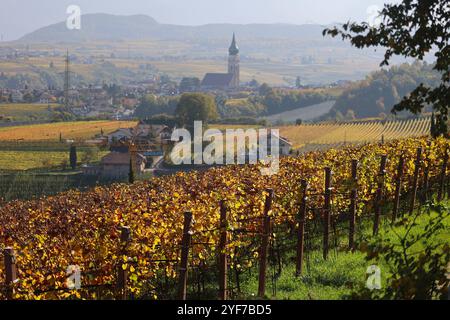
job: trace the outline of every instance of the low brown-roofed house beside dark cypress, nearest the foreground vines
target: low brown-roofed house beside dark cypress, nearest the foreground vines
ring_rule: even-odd
[[[139,175],[144,172],[147,159],[137,153],[134,163],[134,173]],[[111,152],[104,156],[100,162],[100,175],[108,178],[125,178],[130,172],[130,153]]]

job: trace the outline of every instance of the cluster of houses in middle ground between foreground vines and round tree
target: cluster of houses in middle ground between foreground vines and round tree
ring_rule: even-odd
[[[177,166],[171,163],[169,153],[172,151],[173,146],[179,142],[172,137],[175,129],[176,127],[141,120],[136,127],[120,128],[106,136],[86,140],[84,141],[86,144],[108,146],[110,153],[105,155],[99,164],[84,164],[81,170],[87,176],[124,179],[129,176],[130,170],[139,177],[148,172],[154,175],[164,175],[180,170],[198,170],[202,169],[202,167],[205,169],[210,167],[211,165],[202,164],[200,166],[186,168],[186,166]],[[248,132],[242,131],[241,134],[247,135]],[[288,156],[291,154],[292,143],[288,139],[272,133],[260,136],[256,145],[244,145],[242,149],[236,150],[235,156],[243,159],[244,164],[249,163],[249,159],[252,157],[257,159],[259,157],[261,139],[266,139],[266,143],[263,144],[266,148],[265,153],[271,155],[272,138],[278,140],[280,156]],[[244,137],[244,141],[245,139],[246,137]],[[248,141],[250,141],[250,138]],[[234,150],[234,146],[232,149]],[[221,151],[225,153],[225,150]],[[188,162],[191,165],[191,162]],[[212,165],[215,166],[218,164],[222,164],[222,161]]]

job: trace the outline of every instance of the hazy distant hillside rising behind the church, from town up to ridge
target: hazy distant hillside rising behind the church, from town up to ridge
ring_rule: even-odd
[[[74,84],[143,81],[153,74],[202,78],[226,70],[231,35],[241,49],[241,80],[294,85],[361,80],[377,70],[382,54],[357,50],[322,36],[318,24],[161,24],[144,15],[87,14],[81,30],[65,22],[42,27],[18,41],[2,42],[0,86],[62,86],[64,54],[71,53]],[[28,52],[31,55],[28,56]],[[54,66],[49,68],[50,63]],[[148,69],[146,69],[148,66]]]

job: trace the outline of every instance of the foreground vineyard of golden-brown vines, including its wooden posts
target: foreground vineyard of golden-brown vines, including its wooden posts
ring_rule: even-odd
[[[415,124],[384,132],[414,133]],[[227,166],[2,203],[2,298],[183,299],[186,283],[201,294],[208,277],[221,298],[239,298],[239,274],[255,265],[264,296],[269,247],[275,256],[296,250],[301,273],[305,243],[326,259],[339,232],[351,249],[363,221],[376,233],[383,219],[442,199],[449,147],[395,140],[283,158],[273,176],[260,174],[262,164]],[[71,265],[81,269],[80,290],[66,287]]]

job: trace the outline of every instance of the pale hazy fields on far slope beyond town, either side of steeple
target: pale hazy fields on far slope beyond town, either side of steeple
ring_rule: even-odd
[[[69,45],[71,54],[79,58],[95,57],[93,64],[82,59],[72,62],[71,70],[87,82],[102,83],[117,76],[121,80],[145,77],[141,65],[151,64],[159,73],[180,80],[181,77],[203,78],[207,72],[225,72],[227,48],[230,39],[211,41],[118,41],[85,42]],[[362,54],[359,50],[340,45],[311,48],[303,41],[265,39],[239,39],[241,44],[241,79],[271,85],[294,84],[297,76],[305,83],[329,83],[340,79],[360,80],[378,68],[381,57],[372,52]],[[29,57],[0,61],[0,69],[6,75],[28,74],[39,77],[38,71],[55,74],[64,71],[64,53],[68,44],[34,44],[32,50],[55,51],[60,56]],[[274,48],[277,48],[274,50]],[[17,44],[18,50],[24,50]],[[111,57],[114,53],[116,57]],[[333,59],[329,59],[330,55]],[[314,63],[304,64],[302,58],[314,56]],[[145,57],[145,58],[144,58]],[[286,58],[289,57],[289,58]],[[49,68],[53,62],[54,69]],[[110,72],[110,66],[115,66]],[[134,75],[130,76],[129,71]],[[104,74],[103,78],[99,74]]]

